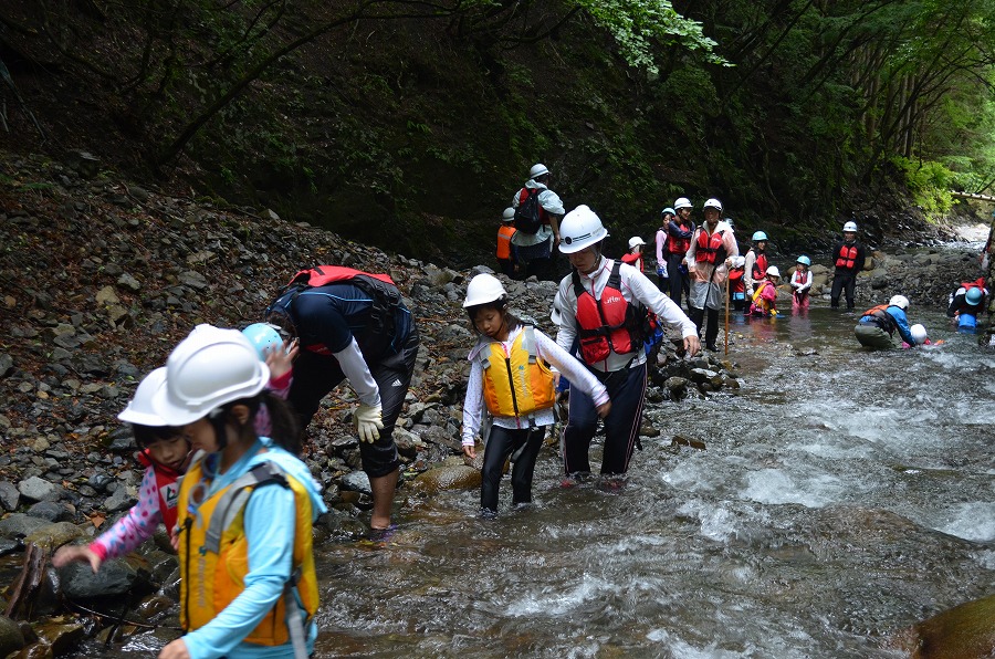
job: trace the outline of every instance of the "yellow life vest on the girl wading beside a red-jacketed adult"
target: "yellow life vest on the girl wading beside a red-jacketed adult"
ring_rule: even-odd
[[[492,341],[480,348],[483,367],[484,402],[495,417],[524,417],[556,402],[553,373],[535,354],[535,330],[525,325],[512,342],[511,354],[504,344]]]

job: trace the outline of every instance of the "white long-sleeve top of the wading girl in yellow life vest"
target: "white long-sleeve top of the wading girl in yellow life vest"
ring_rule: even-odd
[[[519,325],[507,333],[507,341],[501,342],[504,346],[504,354],[511,354],[512,344],[524,331],[523,325]],[[535,355],[540,359],[545,359],[553,365],[564,377],[570,380],[572,387],[577,387],[594,400],[595,407],[604,405],[608,401],[608,390],[598,378],[584,367],[570,354],[556,345],[552,338],[533,328],[535,336]],[[491,342],[494,343],[494,342]],[[470,360],[470,381],[467,384],[467,398],[463,400],[463,446],[473,446],[474,439],[483,421],[483,414],[486,406],[483,399],[483,366],[480,363],[479,354],[482,349],[490,349],[490,343],[478,344],[472,351],[468,359]],[[553,416],[553,408],[541,409],[527,417],[494,417],[493,423],[502,428],[537,428],[542,426],[552,426],[556,422]]]

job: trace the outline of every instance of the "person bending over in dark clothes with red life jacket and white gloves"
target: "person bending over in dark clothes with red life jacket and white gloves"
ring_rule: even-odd
[[[301,345],[287,402],[303,430],[338,385],[348,380],[356,391],[353,427],[373,491],[370,538],[379,541],[391,532],[400,473],[394,427],[415,374],[418,327],[386,274],[329,265],[310,273],[312,286],[289,286],[266,310]]]

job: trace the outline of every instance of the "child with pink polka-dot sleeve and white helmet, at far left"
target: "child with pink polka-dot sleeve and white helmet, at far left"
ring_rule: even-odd
[[[78,561],[90,563],[93,572],[97,572],[104,561],[138,548],[155,534],[159,522],[169,531],[176,526],[177,479],[187,471],[191,451],[184,429],[167,425],[151,407],[153,396],[165,379],[165,367],[149,373],[135,389],[135,397],[117,415],[132,426],[140,449],[136,458],[146,467],[138,488],[138,503],[88,545],[60,547],[52,558],[55,567]]]

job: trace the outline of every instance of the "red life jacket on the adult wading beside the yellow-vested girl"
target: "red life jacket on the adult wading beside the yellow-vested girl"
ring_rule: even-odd
[[[621,263],[616,261],[601,299],[588,293],[574,270],[574,292],[577,295],[577,324],[580,325],[580,356],[586,364],[604,362],[614,351],[619,355],[642,348],[642,323],[646,307],[629,304],[621,294]]]

